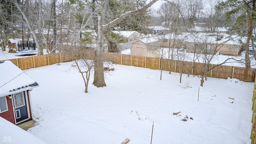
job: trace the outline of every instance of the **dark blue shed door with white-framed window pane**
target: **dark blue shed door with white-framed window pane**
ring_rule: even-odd
[[[28,119],[28,109],[24,92],[13,94],[14,114],[16,124]]]

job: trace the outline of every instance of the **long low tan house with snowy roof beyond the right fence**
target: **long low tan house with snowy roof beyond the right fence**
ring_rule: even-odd
[[[240,39],[237,36],[214,33],[182,33],[160,38],[162,47],[168,44],[175,48],[185,48],[190,53],[224,54],[238,56],[241,51]],[[175,41],[175,44],[173,42]],[[175,45],[175,46],[174,46]]]

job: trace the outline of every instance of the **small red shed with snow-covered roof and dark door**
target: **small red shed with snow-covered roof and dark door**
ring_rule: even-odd
[[[30,91],[38,87],[10,60],[0,62],[0,117],[20,124],[32,119]]]

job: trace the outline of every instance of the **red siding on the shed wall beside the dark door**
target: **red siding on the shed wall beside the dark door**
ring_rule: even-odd
[[[8,105],[8,111],[0,113],[0,116],[4,119],[8,120],[9,122],[12,122],[13,124],[15,124],[12,99],[9,99],[6,96],[6,100],[7,100],[7,105]]]

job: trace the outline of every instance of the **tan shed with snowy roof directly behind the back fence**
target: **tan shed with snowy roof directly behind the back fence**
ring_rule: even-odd
[[[160,46],[158,46],[158,38],[144,38],[136,40],[131,46],[131,55],[159,57]]]

